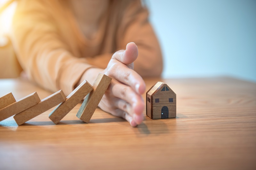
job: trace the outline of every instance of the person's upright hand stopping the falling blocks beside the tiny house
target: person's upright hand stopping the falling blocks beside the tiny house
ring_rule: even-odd
[[[99,107],[114,116],[123,117],[133,127],[144,119],[142,112],[145,104],[141,95],[146,89],[141,76],[133,70],[133,62],[137,57],[138,47],[135,43],[128,43],[126,50],[113,54],[106,69],[91,68],[81,78],[81,81],[86,78],[91,83],[92,79],[88,79],[88,76],[97,76],[99,72],[111,77],[112,81]]]

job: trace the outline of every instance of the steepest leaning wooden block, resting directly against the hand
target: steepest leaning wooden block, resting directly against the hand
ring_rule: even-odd
[[[111,78],[105,74],[99,73],[97,79],[93,83],[93,90],[86,96],[82,106],[78,110],[76,117],[89,123],[94,111],[98,107],[102,96],[108,89]]]

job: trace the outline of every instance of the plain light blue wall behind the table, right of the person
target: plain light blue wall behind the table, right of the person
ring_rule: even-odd
[[[228,75],[256,82],[256,0],[146,0],[164,78]]]

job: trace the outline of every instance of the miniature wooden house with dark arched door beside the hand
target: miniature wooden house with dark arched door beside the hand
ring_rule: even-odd
[[[163,82],[157,82],[146,95],[147,116],[151,119],[176,117],[176,94]]]

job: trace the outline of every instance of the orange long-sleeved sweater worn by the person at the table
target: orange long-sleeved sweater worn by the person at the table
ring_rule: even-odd
[[[129,42],[139,49],[134,70],[141,76],[161,74],[160,47],[139,0],[82,4],[84,11],[68,0],[18,1],[11,39],[31,81],[68,95],[88,68],[106,68]]]

